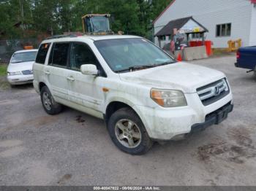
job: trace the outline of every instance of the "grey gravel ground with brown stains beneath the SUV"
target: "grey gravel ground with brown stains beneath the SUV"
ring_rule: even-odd
[[[235,61],[192,62],[227,74],[235,103],[228,119],[143,156],[119,151],[102,120],[73,109],[49,116],[31,85],[1,85],[0,184],[256,185],[256,78]]]

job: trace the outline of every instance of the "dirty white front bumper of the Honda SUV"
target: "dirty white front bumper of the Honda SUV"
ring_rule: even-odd
[[[176,139],[177,136],[187,135],[218,124],[227,117],[227,115],[220,117],[220,109],[227,105],[233,105],[231,91],[225,98],[208,106],[203,106],[197,93],[188,94],[186,98],[188,106],[177,108],[134,106],[151,139],[169,141]],[[228,112],[225,114],[232,112],[232,109],[233,106],[229,106]],[[216,116],[217,113],[219,113],[219,117]]]

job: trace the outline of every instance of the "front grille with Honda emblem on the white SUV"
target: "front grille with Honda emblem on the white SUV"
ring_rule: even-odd
[[[197,94],[204,106],[208,106],[209,104],[224,98],[229,93],[230,89],[226,79],[220,79],[217,82],[197,88]]]

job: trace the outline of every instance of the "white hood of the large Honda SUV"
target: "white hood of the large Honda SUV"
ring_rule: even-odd
[[[182,90],[184,93],[196,93],[198,87],[225,77],[221,71],[183,62],[119,75],[120,79],[126,82],[154,88]]]

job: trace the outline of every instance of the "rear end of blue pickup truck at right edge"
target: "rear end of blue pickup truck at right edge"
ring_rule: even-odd
[[[255,71],[256,75],[256,46],[239,48],[236,53],[236,58],[236,67],[242,69],[249,69],[247,73]]]

